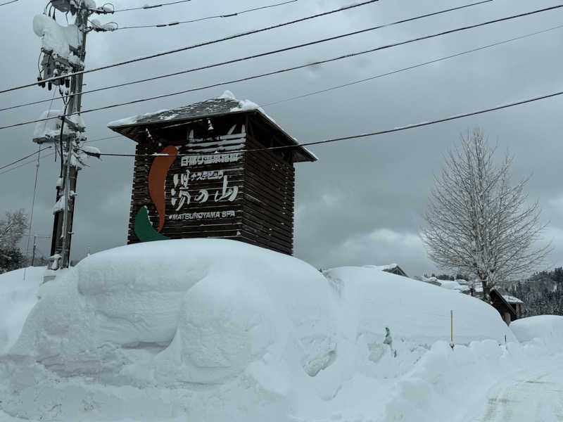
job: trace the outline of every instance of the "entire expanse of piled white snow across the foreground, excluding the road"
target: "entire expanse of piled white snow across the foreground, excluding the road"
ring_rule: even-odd
[[[563,335],[563,317],[514,336],[456,291],[235,241],[99,252],[38,291],[22,271],[0,276],[0,421],[469,421]]]

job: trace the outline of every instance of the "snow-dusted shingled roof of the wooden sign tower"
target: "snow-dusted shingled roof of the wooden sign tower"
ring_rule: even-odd
[[[189,106],[115,120],[115,122],[110,122],[108,127],[139,143],[145,139],[147,128],[172,127],[194,120],[243,113],[247,113],[261,120],[272,129],[276,130],[284,141],[282,146],[298,144],[293,136],[290,136],[284,129],[281,129],[281,127],[255,103],[251,101],[238,101],[233,96],[225,96],[225,94],[220,98],[211,98],[206,101],[201,101],[200,103],[190,104]],[[296,148],[291,148],[291,150],[293,152],[293,162],[317,161],[315,154],[311,153],[303,146],[296,146]]]

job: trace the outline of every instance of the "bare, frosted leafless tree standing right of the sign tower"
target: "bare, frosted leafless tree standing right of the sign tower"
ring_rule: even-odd
[[[494,153],[482,130],[461,136],[436,177],[422,231],[431,259],[443,269],[474,274],[484,300],[499,281],[526,274],[550,251],[550,245],[535,245],[545,226],[538,202],[530,205],[524,193],[528,179],[511,186],[512,157],[496,166]]]

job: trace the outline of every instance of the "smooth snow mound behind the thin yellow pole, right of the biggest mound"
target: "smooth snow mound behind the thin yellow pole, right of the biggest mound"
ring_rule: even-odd
[[[494,339],[516,341],[498,312],[485,302],[429,283],[369,267],[341,267],[325,271],[339,290],[348,312],[357,318],[358,331],[382,333],[429,347],[450,338],[453,310],[454,343]]]

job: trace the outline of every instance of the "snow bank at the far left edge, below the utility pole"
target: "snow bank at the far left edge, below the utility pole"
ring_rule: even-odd
[[[15,343],[27,314],[37,302],[44,267],[29,267],[0,274],[0,354]]]

